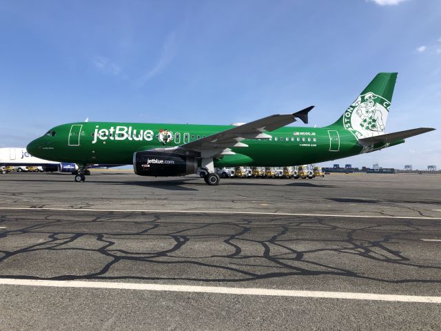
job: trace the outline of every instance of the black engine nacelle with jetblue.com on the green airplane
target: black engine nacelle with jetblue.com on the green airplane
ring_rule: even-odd
[[[133,169],[140,176],[183,176],[195,174],[198,163],[194,157],[165,152],[135,152]]]

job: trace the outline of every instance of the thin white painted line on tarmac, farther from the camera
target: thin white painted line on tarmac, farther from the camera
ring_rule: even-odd
[[[345,217],[357,219],[441,219],[441,217],[414,217],[414,216],[380,216],[380,215],[342,215],[342,214],[297,214],[290,212],[234,212],[225,210],[152,210],[152,209],[90,209],[90,208],[21,208],[0,207],[0,210],[54,210],[74,212],[161,212],[161,213],[187,213],[187,214],[247,214],[271,216],[309,216],[309,217]]]

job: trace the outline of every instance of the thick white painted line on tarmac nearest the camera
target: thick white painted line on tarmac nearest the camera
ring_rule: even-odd
[[[145,284],[145,283],[111,283],[107,281],[43,281],[43,280],[33,280],[33,279],[0,279],[0,285],[46,286],[46,287],[54,287],[54,288],[103,288],[103,289],[117,289],[117,290],[263,295],[269,297],[301,297],[301,298],[323,298],[323,299],[355,299],[355,300],[376,300],[376,301],[441,303],[441,297],[420,297],[416,295],[402,295],[402,294],[274,290],[271,288],[225,288],[225,287],[217,287],[217,286],[164,285],[164,284]]]

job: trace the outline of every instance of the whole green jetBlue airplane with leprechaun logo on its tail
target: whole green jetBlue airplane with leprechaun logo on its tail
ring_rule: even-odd
[[[386,134],[396,72],[381,72],[340,119],[324,128],[287,127],[308,123],[310,106],[232,126],[164,123],[78,122],[56,126],[29,143],[41,159],[79,165],[74,181],[85,181],[95,163],[133,164],[141,176],[183,176],[205,170],[218,185],[215,167],[283,166],[318,163],[373,152],[435,130],[418,128]]]

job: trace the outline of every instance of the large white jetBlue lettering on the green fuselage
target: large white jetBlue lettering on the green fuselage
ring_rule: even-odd
[[[137,130],[133,129],[131,126],[113,126],[105,129],[99,128],[99,126],[95,127],[94,131],[94,139],[92,143],[96,143],[98,139],[101,140],[134,140],[134,141],[151,141],[153,140],[153,131],[152,130]]]

